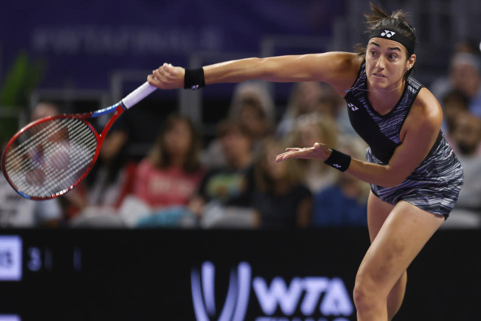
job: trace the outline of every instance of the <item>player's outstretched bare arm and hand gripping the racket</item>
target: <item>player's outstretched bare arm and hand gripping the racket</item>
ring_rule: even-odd
[[[348,88],[362,61],[353,53],[328,52],[299,56],[246,58],[204,66],[206,84],[252,79],[274,82],[322,81],[336,90]],[[183,88],[184,69],[164,64],[149,75],[151,85],[162,89]]]

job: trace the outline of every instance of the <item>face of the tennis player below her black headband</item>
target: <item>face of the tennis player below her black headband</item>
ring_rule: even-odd
[[[412,67],[415,55],[407,59],[407,50],[400,43],[372,38],[366,50],[366,75],[373,89],[391,90],[401,84],[404,73]]]

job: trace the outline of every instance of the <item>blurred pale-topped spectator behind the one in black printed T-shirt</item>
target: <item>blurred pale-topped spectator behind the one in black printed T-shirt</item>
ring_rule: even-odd
[[[272,134],[274,130],[274,111],[274,103],[265,83],[249,81],[235,87],[228,118],[238,121],[251,135],[254,156],[259,151],[262,138]],[[227,164],[218,139],[214,139],[202,152],[202,163],[210,168]]]

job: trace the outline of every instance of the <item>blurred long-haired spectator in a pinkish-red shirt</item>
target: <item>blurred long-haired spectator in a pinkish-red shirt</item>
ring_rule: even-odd
[[[134,195],[120,208],[127,226],[195,224],[187,204],[204,176],[198,157],[200,144],[188,117],[176,113],[167,117],[149,155],[138,166]]]

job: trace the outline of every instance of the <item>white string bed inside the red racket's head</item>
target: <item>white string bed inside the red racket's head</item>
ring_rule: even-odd
[[[97,139],[76,118],[52,119],[22,133],[6,154],[6,171],[21,192],[34,197],[63,194],[91,164]]]

